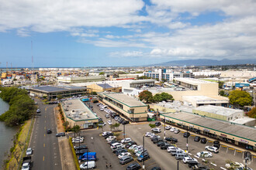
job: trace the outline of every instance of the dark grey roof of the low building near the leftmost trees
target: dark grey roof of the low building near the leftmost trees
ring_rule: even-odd
[[[69,91],[69,90],[85,90],[85,87],[71,87],[71,86],[41,86],[41,87],[32,87],[30,90],[37,90],[45,93]]]

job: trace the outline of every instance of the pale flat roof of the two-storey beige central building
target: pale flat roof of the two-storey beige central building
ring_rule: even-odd
[[[108,93],[108,92],[102,92],[101,94],[106,95],[109,98],[112,98],[114,100],[119,101],[122,104],[126,104],[129,107],[142,107],[147,106],[146,104],[142,103],[141,101],[130,97],[124,93]]]

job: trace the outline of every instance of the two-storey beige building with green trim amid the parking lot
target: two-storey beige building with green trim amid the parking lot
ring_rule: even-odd
[[[124,93],[98,93],[99,100],[130,121],[147,121],[147,105]]]

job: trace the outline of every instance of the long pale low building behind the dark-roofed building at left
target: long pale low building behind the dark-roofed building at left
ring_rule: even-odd
[[[57,76],[57,83],[86,83],[106,80],[105,76]]]

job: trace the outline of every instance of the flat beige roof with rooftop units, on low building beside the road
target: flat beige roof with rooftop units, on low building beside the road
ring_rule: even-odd
[[[92,119],[98,119],[96,114],[92,112],[83,102],[79,99],[65,100],[62,103],[64,112],[67,117],[73,121],[89,121]]]

